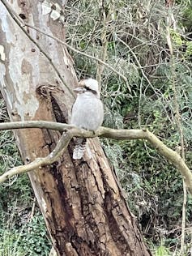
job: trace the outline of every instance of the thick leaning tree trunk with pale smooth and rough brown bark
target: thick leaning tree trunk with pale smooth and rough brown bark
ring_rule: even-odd
[[[13,1],[11,7],[25,22],[65,39],[62,23],[42,14],[42,1]],[[2,2],[0,10],[0,86],[11,121],[68,122],[74,96]],[[75,87],[77,79],[67,50],[31,28],[27,31],[49,53],[65,83]],[[59,136],[53,130],[15,131],[26,163],[49,154]],[[99,140],[88,140],[83,160],[71,159],[73,147],[71,142],[58,162],[29,173],[58,255],[150,255]]]

